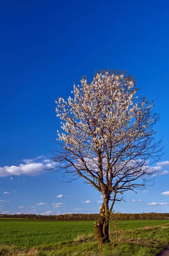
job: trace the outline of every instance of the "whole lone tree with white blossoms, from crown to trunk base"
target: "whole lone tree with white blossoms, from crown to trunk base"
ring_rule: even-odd
[[[161,155],[161,140],[155,142],[153,126],[158,114],[152,103],[137,96],[136,81],[125,72],[102,70],[88,83],[85,76],[74,84],[73,98],[61,96],[57,117],[60,149],[54,150],[54,172],[64,170],[83,177],[103,194],[95,222],[99,244],[109,242],[109,216],[115,201],[127,190],[143,187],[155,170],[149,165]],[[110,204],[111,202],[111,204]]]

